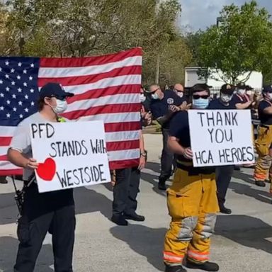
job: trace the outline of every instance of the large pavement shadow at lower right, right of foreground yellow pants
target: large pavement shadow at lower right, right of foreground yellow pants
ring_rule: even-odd
[[[243,246],[261,249],[272,254],[272,227],[262,220],[247,215],[220,215],[215,234],[231,239]]]

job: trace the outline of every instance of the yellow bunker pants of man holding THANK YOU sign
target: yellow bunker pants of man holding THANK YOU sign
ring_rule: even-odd
[[[195,263],[208,261],[219,211],[215,174],[189,176],[188,171],[176,169],[167,205],[172,219],[164,241],[164,262],[178,266],[185,255]]]

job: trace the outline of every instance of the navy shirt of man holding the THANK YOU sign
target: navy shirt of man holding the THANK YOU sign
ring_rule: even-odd
[[[181,147],[191,147],[191,139],[190,139],[190,129],[189,129],[189,120],[188,120],[188,111],[180,111],[176,113],[174,118],[172,118],[169,128],[169,135],[174,136],[179,139],[179,145]],[[186,170],[188,170],[189,174],[198,175],[198,174],[211,174],[215,171],[215,167],[193,167],[193,161],[191,159],[186,159],[182,155],[176,156],[177,166],[179,167],[179,162],[191,162],[192,166],[189,166]]]

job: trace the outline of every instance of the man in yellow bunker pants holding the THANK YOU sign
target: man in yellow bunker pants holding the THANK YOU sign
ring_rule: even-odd
[[[206,84],[191,89],[193,109],[205,109],[210,99]],[[169,149],[176,154],[176,172],[167,191],[171,224],[164,241],[166,272],[183,272],[186,256],[188,268],[218,271],[211,263],[210,237],[219,212],[216,195],[215,167],[193,167],[188,112],[181,111],[171,120]]]

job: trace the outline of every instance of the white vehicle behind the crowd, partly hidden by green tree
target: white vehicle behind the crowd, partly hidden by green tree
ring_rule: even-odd
[[[198,70],[201,67],[186,67],[185,68],[185,87],[190,88],[191,86],[198,83],[206,83],[209,86],[212,86],[212,89],[220,90],[220,87],[225,84],[225,81],[221,79],[222,72],[211,69],[210,76],[208,79],[200,78],[198,76]],[[246,85],[251,86],[256,91],[261,91],[263,86],[263,74],[261,72],[251,72],[242,74],[238,77],[239,80],[244,81],[249,76],[249,78],[244,82]]]

